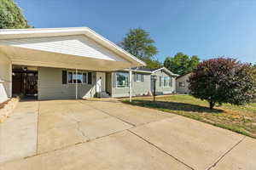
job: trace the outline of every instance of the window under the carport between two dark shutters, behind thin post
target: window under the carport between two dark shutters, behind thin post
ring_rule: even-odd
[[[67,82],[69,84],[75,84],[76,81],[78,81],[78,84],[86,83],[87,82],[87,73],[86,72],[78,72],[78,75],[76,75],[76,71],[68,71],[67,74]]]

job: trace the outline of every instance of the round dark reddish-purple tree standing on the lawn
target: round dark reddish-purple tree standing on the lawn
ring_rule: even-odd
[[[189,90],[195,98],[215,104],[243,105],[255,97],[255,70],[236,59],[218,58],[201,62],[189,77]]]

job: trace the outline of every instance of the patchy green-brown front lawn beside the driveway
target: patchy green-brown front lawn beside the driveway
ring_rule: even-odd
[[[131,103],[127,100],[123,102],[175,113],[256,138],[255,103],[242,106],[226,104],[210,110],[206,101],[189,95],[158,96],[156,100],[154,102],[153,98],[135,98]]]

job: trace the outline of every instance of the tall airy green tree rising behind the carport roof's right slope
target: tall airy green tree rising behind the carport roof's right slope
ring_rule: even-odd
[[[141,28],[131,29],[119,46],[138,59],[142,59],[149,68],[160,65],[160,62],[154,59],[154,55],[158,53],[154,40]]]

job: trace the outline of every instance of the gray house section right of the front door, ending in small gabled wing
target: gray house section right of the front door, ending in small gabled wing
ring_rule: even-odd
[[[112,97],[129,96],[129,74],[127,69],[107,73],[106,92]],[[176,91],[175,79],[178,75],[173,74],[165,67],[160,69],[133,68],[132,69],[132,95],[141,96],[153,94],[153,76],[156,76],[156,94],[174,94]]]

